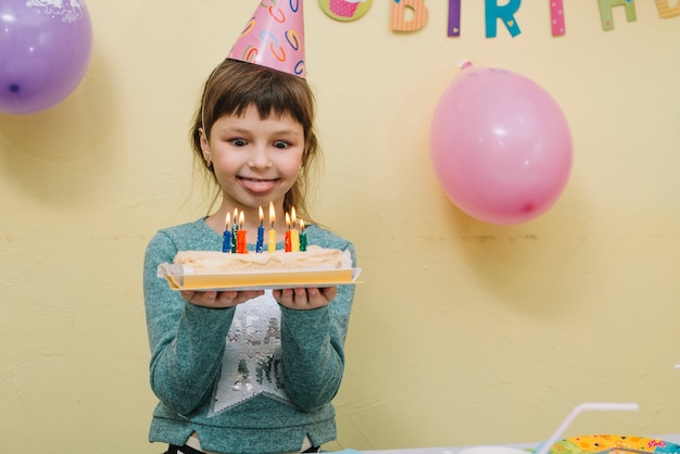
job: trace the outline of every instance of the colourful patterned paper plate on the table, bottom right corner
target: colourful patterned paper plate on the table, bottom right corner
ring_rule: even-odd
[[[534,452],[539,452],[541,445]],[[680,445],[675,443],[637,436],[600,434],[571,437],[558,441],[550,450],[551,454],[578,453],[676,453],[680,454]]]

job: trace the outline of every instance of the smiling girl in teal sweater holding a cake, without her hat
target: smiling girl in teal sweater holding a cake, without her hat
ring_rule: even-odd
[[[335,440],[331,400],[344,367],[354,286],[273,291],[175,292],[156,277],[180,250],[222,250],[227,213],[259,207],[308,219],[305,193],[319,157],[314,98],[304,78],[225,60],[205,83],[191,129],[194,157],[218,185],[222,203],[193,223],[160,230],[144,258],[151,387],[160,402],[150,441],[167,453],[319,452]],[[310,244],[353,245],[311,223]],[[254,251],[254,244],[248,244]]]

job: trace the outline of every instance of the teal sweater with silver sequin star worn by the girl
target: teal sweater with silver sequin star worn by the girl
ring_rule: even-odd
[[[350,250],[355,263],[349,241],[315,225],[305,232],[308,244]],[[297,451],[305,436],[314,445],[335,440],[331,400],[354,286],[339,286],[328,306],[312,311],[279,306],[270,294],[212,310],[186,302],[156,276],[177,251],[221,251],[222,241],[201,218],[160,230],[147,248],[151,388],[160,400],[149,440],[182,445],[196,431],[204,450],[229,454]]]

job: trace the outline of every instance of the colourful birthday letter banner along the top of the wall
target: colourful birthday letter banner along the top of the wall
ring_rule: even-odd
[[[379,0],[383,1],[383,0]],[[390,25],[393,31],[417,31],[427,25],[429,11],[426,0],[389,0],[391,3]],[[479,0],[476,0],[479,1]],[[487,38],[495,38],[498,25],[502,24],[512,37],[521,34],[521,27],[516,14],[521,8],[521,0],[484,1],[484,21]],[[564,0],[547,0],[550,2],[550,21],[553,36],[567,33],[566,12]],[[337,21],[356,21],[370,9],[373,0],[319,0],[324,12]],[[655,0],[658,16],[662,20],[680,16],[680,1]],[[462,0],[449,0],[448,36],[461,36],[461,3]],[[626,10],[627,22],[635,22],[635,0],[597,0],[600,20],[605,31],[614,29],[613,9]]]

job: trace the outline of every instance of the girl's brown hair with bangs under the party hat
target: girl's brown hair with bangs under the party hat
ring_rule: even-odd
[[[224,115],[243,115],[251,105],[257,109],[261,118],[287,114],[302,125],[302,168],[295,184],[284,198],[284,210],[289,212],[294,206],[300,217],[310,219],[306,205],[310,178],[315,164],[322,157],[314,125],[314,94],[306,80],[301,77],[230,59],[215,67],[205,81],[201,105],[193,116],[190,131],[194,157],[218,188],[213,202],[219,197],[221,190],[213,167],[203,160],[201,130],[204,130],[207,138],[216,119]]]

